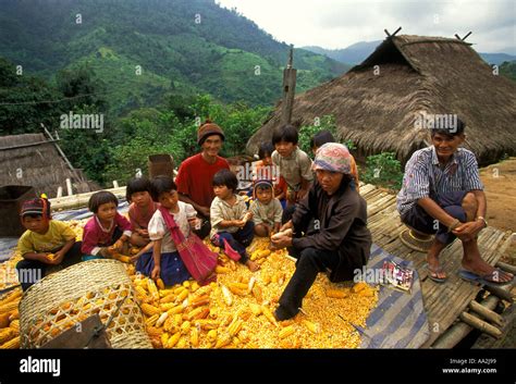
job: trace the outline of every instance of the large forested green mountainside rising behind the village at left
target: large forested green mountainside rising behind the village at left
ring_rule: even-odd
[[[271,104],[281,96],[288,46],[212,0],[3,0],[0,57],[53,78],[86,67],[116,114],[165,94],[207,92],[224,102]],[[294,52],[297,91],[349,69]]]

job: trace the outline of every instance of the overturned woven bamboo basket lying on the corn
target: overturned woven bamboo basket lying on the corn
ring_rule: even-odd
[[[124,265],[90,260],[48,275],[28,288],[20,304],[22,348],[39,348],[98,313],[102,323],[116,310],[107,334],[113,348],[152,348]]]

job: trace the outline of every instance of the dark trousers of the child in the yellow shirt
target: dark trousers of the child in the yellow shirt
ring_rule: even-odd
[[[64,255],[63,261],[61,262],[62,268],[66,268],[81,262],[81,246],[82,241],[75,241],[72,248]],[[59,249],[53,250],[57,252]],[[16,264],[16,272],[22,289],[26,290],[29,286],[37,283],[39,280],[45,277],[47,271],[53,265],[46,264],[37,260],[23,259]]]

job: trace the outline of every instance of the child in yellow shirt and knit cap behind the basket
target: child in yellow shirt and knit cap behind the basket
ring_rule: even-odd
[[[27,230],[17,244],[24,259],[16,264],[23,290],[46,275],[47,265],[70,267],[81,261],[81,241],[75,243],[75,233],[66,223],[51,219],[47,199],[24,201],[21,216]]]

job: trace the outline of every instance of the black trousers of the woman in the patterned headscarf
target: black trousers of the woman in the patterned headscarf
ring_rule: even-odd
[[[300,252],[290,248],[288,252],[297,258],[296,270],[280,297],[280,311],[293,317],[302,308],[303,299],[317,274],[334,270],[339,265],[339,252],[316,248],[306,248]]]

